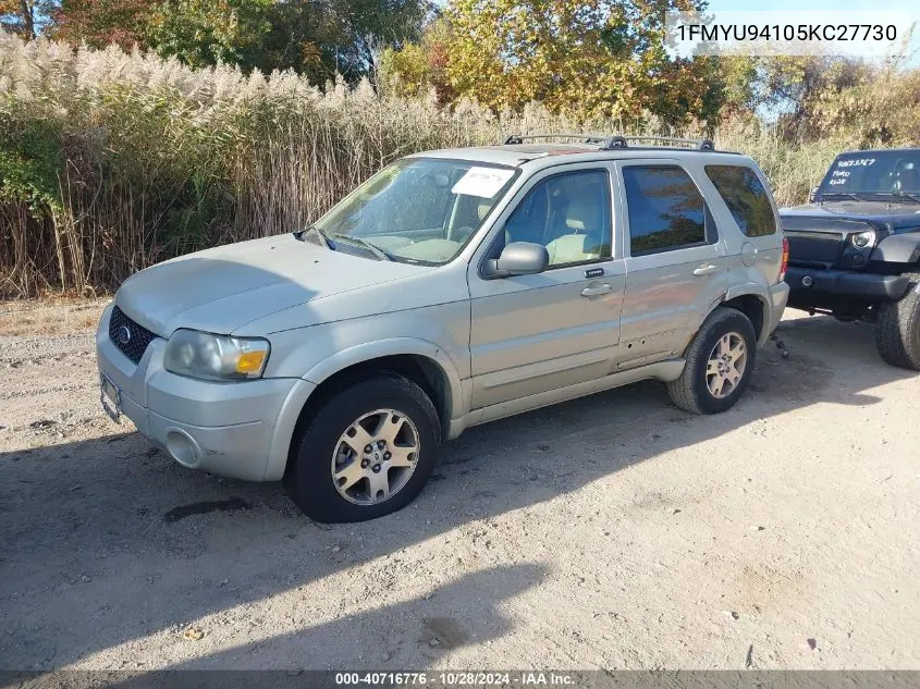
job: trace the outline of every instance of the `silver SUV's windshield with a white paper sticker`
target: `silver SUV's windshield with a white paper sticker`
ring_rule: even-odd
[[[314,226],[378,258],[440,266],[453,259],[517,170],[465,160],[404,158],[345,197]]]

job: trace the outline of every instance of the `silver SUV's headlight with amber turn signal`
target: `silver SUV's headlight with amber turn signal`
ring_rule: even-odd
[[[163,366],[191,378],[248,380],[261,377],[269,350],[267,340],[176,330],[167,343]]]

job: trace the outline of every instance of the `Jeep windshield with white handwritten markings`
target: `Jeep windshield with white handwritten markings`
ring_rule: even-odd
[[[920,149],[864,150],[837,156],[818,200],[907,200],[920,195]]]

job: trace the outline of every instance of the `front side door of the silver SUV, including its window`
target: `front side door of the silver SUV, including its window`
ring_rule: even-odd
[[[539,243],[547,271],[488,280],[470,263],[474,409],[611,372],[626,280],[613,258],[611,171],[592,163],[535,175],[496,222],[489,257]]]

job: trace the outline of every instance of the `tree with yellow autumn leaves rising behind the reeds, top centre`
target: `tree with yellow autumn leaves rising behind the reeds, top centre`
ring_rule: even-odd
[[[456,0],[447,73],[458,94],[495,109],[543,101],[578,116],[712,120],[716,63],[672,60],[664,17],[696,0]]]

